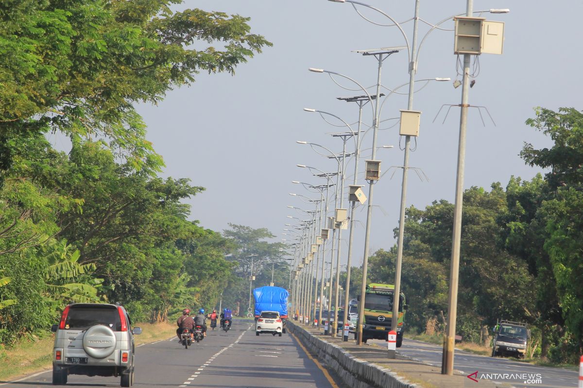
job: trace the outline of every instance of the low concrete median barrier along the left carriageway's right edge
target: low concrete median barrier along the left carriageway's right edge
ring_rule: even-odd
[[[417,388],[396,373],[377,364],[356,358],[342,347],[328,343],[287,321],[287,330],[295,334],[311,353],[317,354],[351,388]]]

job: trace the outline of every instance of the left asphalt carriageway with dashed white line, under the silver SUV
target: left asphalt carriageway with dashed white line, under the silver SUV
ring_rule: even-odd
[[[175,338],[139,346],[134,387],[336,387],[290,334],[255,336],[251,325],[235,321],[188,349]],[[0,387],[48,385],[50,371]],[[118,387],[120,378],[69,375],[66,386]]]

